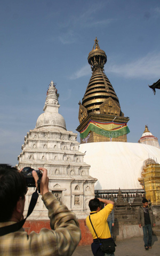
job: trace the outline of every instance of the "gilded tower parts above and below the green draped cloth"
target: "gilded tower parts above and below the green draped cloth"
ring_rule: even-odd
[[[104,73],[104,65],[107,62],[105,51],[100,49],[97,37],[94,40],[92,51],[89,53],[88,62],[92,69],[92,76],[87,85],[84,97],[79,101],[78,119],[80,125],[77,127],[78,132],[82,132],[90,120],[94,122],[113,122],[119,126],[129,121],[129,117],[124,117],[119,105],[118,97],[111,85],[108,77]],[[87,142],[110,141],[110,137],[98,134],[95,131],[89,133]],[[127,141],[126,134],[112,138],[112,141]],[[84,143],[81,138],[81,143]]]

